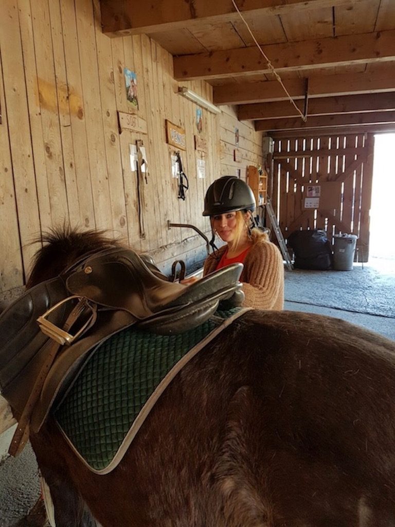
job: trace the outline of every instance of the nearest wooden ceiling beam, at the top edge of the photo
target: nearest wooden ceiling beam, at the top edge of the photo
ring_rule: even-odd
[[[364,0],[244,0],[240,9],[255,14],[285,15],[325,7],[352,6]],[[163,33],[198,28],[207,22],[235,22],[240,15],[231,0],[101,0],[103,32],[108,36]]]

